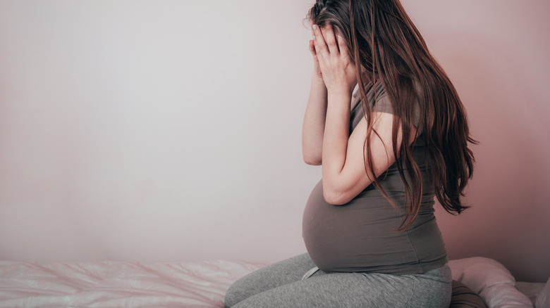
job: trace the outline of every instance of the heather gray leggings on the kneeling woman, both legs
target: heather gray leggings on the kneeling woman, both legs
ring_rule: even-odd
[[[448,265],[413,275],[319,270],[304,278],[314,267],[304,254],[259,269],[229,287],[226,307],[431,308],[451,302]]]

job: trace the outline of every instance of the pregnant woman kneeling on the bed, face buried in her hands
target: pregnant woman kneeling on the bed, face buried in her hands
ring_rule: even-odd
[[[236,281],[227,307],[448,307],[434,198],[451,213],[475,143],[456,89],[399,0],[318,0],[304,160],[322,165],[307,254]]]

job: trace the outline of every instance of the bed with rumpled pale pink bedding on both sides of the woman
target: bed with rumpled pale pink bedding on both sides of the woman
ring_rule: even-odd
[[[449,262],[451,307],[475,307],[460,295],[472,293],[487,307],[550,307],[548,283],[515,282],[494,259]],[[0,307],[224,307],[231,283],[264,266],[226,260],[204,262],[0,261]]]

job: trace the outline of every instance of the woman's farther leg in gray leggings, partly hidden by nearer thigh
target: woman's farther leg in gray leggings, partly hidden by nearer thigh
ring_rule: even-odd
[[[302,276],[313,267],[315,264],[306,253],[258,269],[240,278],[228,288],[225,305],[232,307],[258,293],[300,281]]]

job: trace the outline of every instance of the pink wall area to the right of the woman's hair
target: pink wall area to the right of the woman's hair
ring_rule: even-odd
[[[550,3],[434,4],[405,1],[480,142],[465,198],[472,208],[460,217],[438,208],[449,256],[492,257],[519,280],[544,282],[550,276]]]

